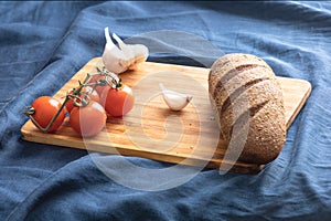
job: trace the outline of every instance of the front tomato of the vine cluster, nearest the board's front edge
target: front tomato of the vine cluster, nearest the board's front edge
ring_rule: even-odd
[[[84,107],[74,107],[70,115],[71,127],[83,137],[97,135],[106,125],[104,107],[94,101]]]

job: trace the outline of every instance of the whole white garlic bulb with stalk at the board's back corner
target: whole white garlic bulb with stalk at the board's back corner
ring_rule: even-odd
[[[111,41],[108,27],[105,28],[106,45],[103,62],[109,72],[120,74],[127,70],[134,70],[148,57],[148,49],[142,44],[126,44],[113,33],[118,46]]]

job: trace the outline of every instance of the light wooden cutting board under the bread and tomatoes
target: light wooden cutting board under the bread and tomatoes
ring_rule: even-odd
[[[54,97],[63,101],[70,88],[77,87],[87,73],[102,66],[102,59],[90,60]],[[137,71],[121,74],[122,82],[136,95],[134,109],[122,118],[108,119],[106,128],[96,137],[83,139],[66,119],[54,134],[41,133],[31,120],[21,128],[25,140],[70,148],[87,149],[124,156],[143,157],[166,162],[220,168],[256,173],[264,165],[226,161],[226,146],[218,140],[218,127],[207,94],[209,69],[146,62]],[[310,95],[307,81],[278,77],[284,91],[287,128]],[[181,112],[168,108],[159,94],[159,83],[172,91],[193,95],[191,104]],[[215,140],[217,137],[217,140]]]

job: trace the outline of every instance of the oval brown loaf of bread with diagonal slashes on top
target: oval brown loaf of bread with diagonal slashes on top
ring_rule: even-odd
[[[279,155],[286,139],[282,91],[265,61],[239,53],[220,57],[210,71],[209,93],[229,152],[252,164]]]

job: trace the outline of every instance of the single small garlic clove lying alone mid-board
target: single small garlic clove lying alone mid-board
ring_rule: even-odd
[[[166,104],[172,110],[181,110],[193,98],[192,95],[181,94],[174,91],[167,90],[162,83],[159,84],[162,90],[162,96]]]

